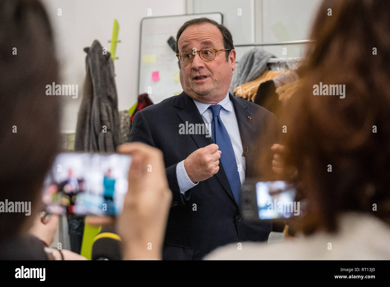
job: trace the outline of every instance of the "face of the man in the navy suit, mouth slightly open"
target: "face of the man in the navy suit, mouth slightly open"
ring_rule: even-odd
[[[204,23],[191,25],[181,34],[178,41],[179,53],[183,51],[197,51],[206,48],[224,49],[220,30],[213,24]],[[180,83],[183,91],[194,100],[202,103],[218,103],[225,98],[232,80],[235,68],[236,51],[227,51],[229,61],[226,61],[226,52],[216,53],[213,61],[203,61],[199,53],[193,62],[180,62]],[[196,79],[199,76],[206,78]]]

